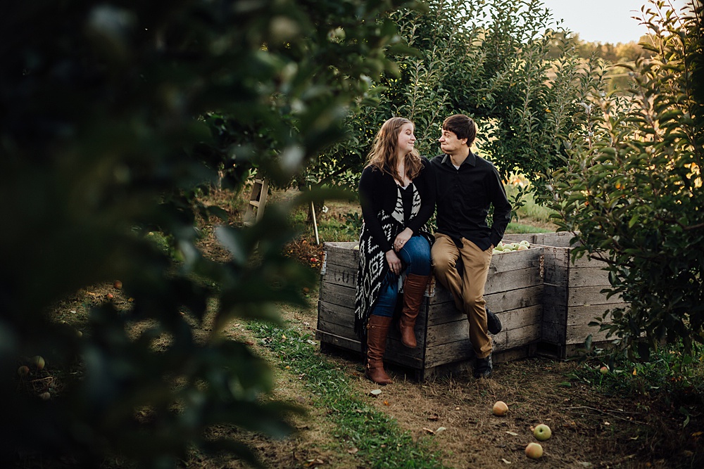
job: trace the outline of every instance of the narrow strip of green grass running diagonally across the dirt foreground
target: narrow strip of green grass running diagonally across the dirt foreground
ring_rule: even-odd
[[[439,450],[425,439],[413,441],[408,431],[385,413],[360,399],[353,391],[348,375],[317,353],[310,335],[295,328],[280,328],[269,323],[252,322],[247,329],[260,345],[285,357],[276,366],[288,373],[303,376],[306,387],[315,396],[315,406],[327,410],[336,426],[339,451],[349,451],[360,461],[358,467],[369,468],[442,468]]]

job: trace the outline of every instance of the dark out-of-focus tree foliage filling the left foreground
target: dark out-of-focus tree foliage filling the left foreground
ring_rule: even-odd
[[[223,330],[234,318],[277,321],[276,304],[303,304],[315,276],[282,255],[294,236],[285,208],[247,229],[223,223],[231,259],[207,259],[195,219],[222,210],[195,196],[218,172],[234,188],[252,167],[284,181],[333,143],[348,103],[393,70],[388,13],[409,5],[3,6],[0,461],[97,467],[117,455],[172,467],[191,447],[253,461],[208,429],[291,432],[294,409],[268,398],[268,366]],[[332,41],[339,27],[346,37]],[[175,257],[151,241],[157,231]],[[116,278],[134,299],[128,311],[96,304],[82,334],[54,320],[62,300]],[[17,373],[37,354],[61,381],[48,400]]]

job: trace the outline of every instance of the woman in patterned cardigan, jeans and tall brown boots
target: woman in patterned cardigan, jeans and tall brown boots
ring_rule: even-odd
[[[359,181],[363,224],[355,331],[366,344],[365,375],[379,385],[392,383],[382,359],[398,278],[406,272],[398,323],[401,342],[415,347],[413,328],[431,272],[433,237],[426,224],[435,210],[435,178],[430,162],[415,150],[414,127],[402,117],[384,122]]]

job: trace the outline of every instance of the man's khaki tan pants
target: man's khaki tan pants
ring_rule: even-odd
[[[455,306],[467,315],[470,323],[470,340],[477,358],[491,354],[491,338],[486,327],[484,285],[491,263],[491,248],[482,251],[472,241],[462,238],[463,248],[457,248],[453,240],[444,234],[435,233],[431,255],[435,277],[450,290]],[[463,273],[456,269],[462,256]]]

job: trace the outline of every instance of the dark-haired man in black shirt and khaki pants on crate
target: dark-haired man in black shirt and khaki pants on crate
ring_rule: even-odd
[[[453,115],[442,124],[439,142],[444,155],[431,160],[437,181],[437,232],[431,254],[436,278],[470,323],[474,378],[488,378],[493,369],[489,332],[498,333],[501,321],[485,307],[484,285],[491,251],[503,238],[511,205],[496,167],[470,151],[476,137],[477,124],[466,115]]]

